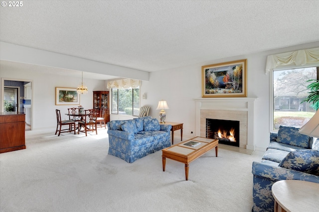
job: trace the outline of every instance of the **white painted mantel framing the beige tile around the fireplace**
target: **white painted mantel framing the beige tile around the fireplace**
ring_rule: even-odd
[[[247,144],[246,149],[255,150],[254,139],[254,123],[255,123],[255,97],[243,97],[243,98],[198,98],[194,99],[196,102],[196,136],[201,136],[201,111],[213,110],[213,111],[247,111]],[[211,117],[210,117],[211,118]],[[203,129],[202,129],[203,130]]]

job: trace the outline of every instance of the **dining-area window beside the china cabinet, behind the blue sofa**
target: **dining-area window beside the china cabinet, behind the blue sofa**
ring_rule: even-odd
[[[139,116],[140,87],[112,88],[112,114]]]

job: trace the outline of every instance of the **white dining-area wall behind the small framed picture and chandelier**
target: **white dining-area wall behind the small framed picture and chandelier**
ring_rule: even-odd
[[[33,130],[56,127],[55,109],[61,110],[61,118],[69,119],[65,113],[68,108],[78,105],[55,105],[55,87],[76,88],[81,82],[81,72],[79,77],[65,77],[61,75],[39,74],[28,70],[3,70],[0,71],[0,78],[11,80],[28,79],[32,80],[32,127]],[[1,80],[2,81],[2,80]],[[104,80],[83,79],[89,92],[80,95],[80,104],[85,109],[93,108],[93,90],[106,90]],[[1,84],[0,84],[1,87]]]

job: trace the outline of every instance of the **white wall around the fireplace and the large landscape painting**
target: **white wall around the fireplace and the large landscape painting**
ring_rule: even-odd
[[[269,144],[270,133],[270,75],[265,74],[268,55],[319,47],[319,42],[294,47],[277,49],[251,55],[243,55],[222,60],[208,61],[166,71],[150,73],[150,80],[143,81],[141,94],[147,93],[147,99],[141,99],[141,105],[151,106],[151,115],[159,117],[155,110],[158,101],[167,101],[169,110],[166,121],[183,123],[183,137],[192,137],[195,133],[195,98],[201,98],[201,66],[222,62],[247,59],[247,91],[248,97],[258,97],[255,104],[255,141],[257,150],[265,150]],[[179,131],[176,131],[179,134]]]

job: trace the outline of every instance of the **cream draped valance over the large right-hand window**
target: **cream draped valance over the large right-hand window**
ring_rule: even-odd
[[[303,49],[267,56],[266,74],[280,67],[319,65],[319,48]]]

